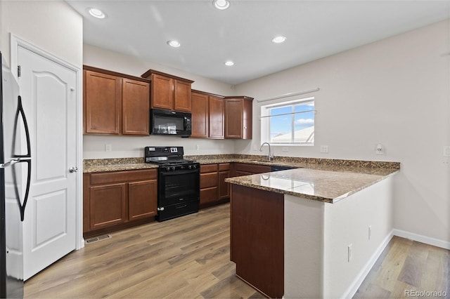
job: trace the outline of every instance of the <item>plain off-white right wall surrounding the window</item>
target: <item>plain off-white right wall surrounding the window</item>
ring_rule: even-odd
[[[314,147],[276,155],[401,162],[394,227],[450,246],[450,22],[316,60],[236,87],[255,98],[253,140],[236,152],[259,150],[258,98],[309,90],[316,97]],[[375,154],[381,143],[385,154]],[[329,146],[329,154],[320,153]]]

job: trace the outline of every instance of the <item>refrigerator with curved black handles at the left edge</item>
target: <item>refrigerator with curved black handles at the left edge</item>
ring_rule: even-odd
[[[23,220],[30,190],[30,134],[19,86],[1,56],[0,297],[23,298]]]

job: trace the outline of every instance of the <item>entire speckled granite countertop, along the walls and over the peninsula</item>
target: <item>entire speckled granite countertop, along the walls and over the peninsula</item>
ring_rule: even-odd
[[[290,166],[294,169],[227,178],[231,184],[271,192],[290,194],[328,203],[335,203],[359,190],[399,172],[399,162],[276,157],[267,161],[264,156],[223,154],[185,156],[200,164],[246,163],[267,166]],[[84,173],[128,171],[158,168],[143,162],[143,157],[118,159],[86,159]]]

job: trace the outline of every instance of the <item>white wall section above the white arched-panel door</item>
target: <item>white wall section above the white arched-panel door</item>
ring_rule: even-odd
[[[0,1],[0,51],[8,65],[10,33],[82,67],[83,19],[64,1]]]

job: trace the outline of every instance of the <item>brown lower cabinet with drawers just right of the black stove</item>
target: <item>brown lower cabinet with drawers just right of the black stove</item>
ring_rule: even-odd
[[[200,165],[200,205],[229,199],[229,176],[229,163]]]

